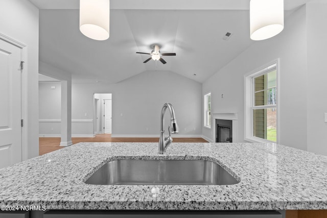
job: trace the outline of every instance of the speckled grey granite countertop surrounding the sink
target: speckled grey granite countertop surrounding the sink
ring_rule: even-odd
[[[112,159],[211,159],[234,185],[90,185]],[[0,205],[46,209],[277,210],[327,209],[327,157],[274,143],[82,142],[0,169]]]

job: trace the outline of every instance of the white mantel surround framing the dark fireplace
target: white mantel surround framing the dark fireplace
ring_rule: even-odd
[[[232,120],[232,137],[233,142],[238,142],[238,114],[237,112],[212,112],[211,123],[216,124],[216,119],[227,119]],[[212,125],[213,141],[216,141],[216,125]]]

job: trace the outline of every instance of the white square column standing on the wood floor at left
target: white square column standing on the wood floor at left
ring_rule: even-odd
[[[61,81],[61,141],[60,146],[72,142],[72,81]]]

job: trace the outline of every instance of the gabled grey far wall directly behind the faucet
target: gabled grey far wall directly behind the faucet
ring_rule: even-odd
[[[112,134],[158,136],[162,106],[173,105],[178,136],[200,136],[201,83],[170,71],[146,71],[117,84],[112,92]],[[122,115],[122,116],[121,116]],[[166,130],[169,124],[166,112]]]

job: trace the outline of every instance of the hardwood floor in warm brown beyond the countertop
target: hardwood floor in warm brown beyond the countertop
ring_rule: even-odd
[[[72,138],[78,142],[158,142],[158,138],[111,138],[111,134],[99,134],[92,138]],[[203,138],[174,138],[174,142],[207,142]],[[60,138],[39,138],[39,155],[65,148],[60,146]]]

